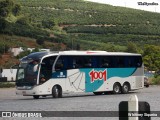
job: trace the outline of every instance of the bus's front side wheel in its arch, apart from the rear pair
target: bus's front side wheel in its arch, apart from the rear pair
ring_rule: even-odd
[[[61,98],[62,97],[62,87],[60,85],[54,85],[52,87],[52,96],[53,96],[53,98]]]

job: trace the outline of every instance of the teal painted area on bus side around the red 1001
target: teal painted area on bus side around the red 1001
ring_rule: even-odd
[[[106,70],[107,71],[106,78],[107,78],[107,80],[109,80],[112,77],[121,77],[121,78],[129,77],[136,71],[136,68],[108,68],[108,69],[106,69],[106,68],[88,68],[88,69],[80,69],[81,72],[85,73],[85,92],[94,92],[98,88],[100,88],[104,83],[104,79],[103,80],[97,79],[97,80],[92,81],[92,78],[90,76],[90,72],[93,71],[93,70],[96,71],[96,72],[103,72],[103,71]]]

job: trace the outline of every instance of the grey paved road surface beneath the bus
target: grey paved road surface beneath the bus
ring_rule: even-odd
[[[72,93],[65,94],[63,98],[59,99],[53,99],[50,96],[46,98],[41,97],[37,100],[33,99],[32,96],[15,95],[15,88],[3,88],[0,89],[0,111],[118,111],[119,103],[121,101],[128,101],[129,97],[135,94],[138,96],[139,101],[146,101],[150,104],[151,111],[160,111],[160,86],[150,86],[149,88],[133,91],[129,94],[96,96],[93,93]],[[84,119],[84,117],[65,119],[77,120],[82,118]],[[53,118],[50,117],[50,119]],[[54,119],[64,119],[64,117],[54,117]],[[91,118],[87,117],[85,119]],[[118,120],[118,117],[94,117],[93,119]],[[151,120],[160,120],[160,117],[154,117]]]

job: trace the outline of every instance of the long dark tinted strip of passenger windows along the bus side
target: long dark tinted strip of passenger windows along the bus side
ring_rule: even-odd
[[[56,69],[140,67],[141,56],[61,56]]]

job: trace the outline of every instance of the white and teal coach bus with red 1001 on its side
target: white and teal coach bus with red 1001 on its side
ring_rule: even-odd
[[[140,54],[106,51],[36,52],[21,59],[16,94],[33,96],[107,91],[128,93],[144,87]]]

